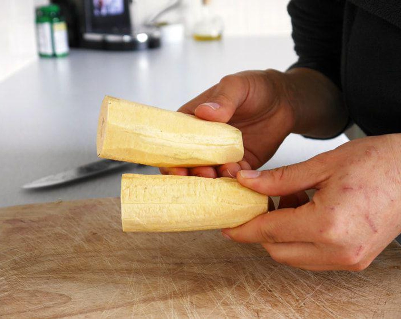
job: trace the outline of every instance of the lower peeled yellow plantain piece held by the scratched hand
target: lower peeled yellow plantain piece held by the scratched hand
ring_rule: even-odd
[[[268,197],[236,179],[124,174],[124,232],[232,228],[267,212]]]

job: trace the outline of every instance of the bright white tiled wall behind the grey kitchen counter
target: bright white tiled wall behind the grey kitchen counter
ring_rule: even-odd
[[[49,0],[0,0],[0,81],[37,58],[34,7]],[[135,0],[136,24],[144,22],[170,0]],[[288,35],[288,0],[211,0],[211,10],[225,23],[224,36]],[[190,27],[199,16],[201,0],[183,0],[178,12],[164,18],[183,20]]]

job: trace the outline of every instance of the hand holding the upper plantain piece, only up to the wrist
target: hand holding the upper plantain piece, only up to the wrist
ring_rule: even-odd
[[[275,70],[244,71],[223,77],[218,84],[186,103],[178,111],[239,128],[244,159],[219,167],[161,168],[161,173],[235,177],[241,169],[263,165],[294,125],[286,81],[285,74]]]

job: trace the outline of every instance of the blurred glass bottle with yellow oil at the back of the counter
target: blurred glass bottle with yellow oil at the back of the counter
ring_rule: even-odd
[[[201,18],[195,23],[192,37],[197,41],[220,40],[223,35],[223,19],[210,10],[210,0],[202,0]]]

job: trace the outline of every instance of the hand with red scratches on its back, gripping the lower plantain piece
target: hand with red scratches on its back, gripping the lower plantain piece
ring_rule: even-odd
[[[283,208],[223,234],[259,242],[277,262],[308,270],[363,270],[401,232],[401,134],[361,138],[308,161],[240,171]],[[299,193],[316,189],[311,201]],[[292,202],[289,203],[289,202]]]

